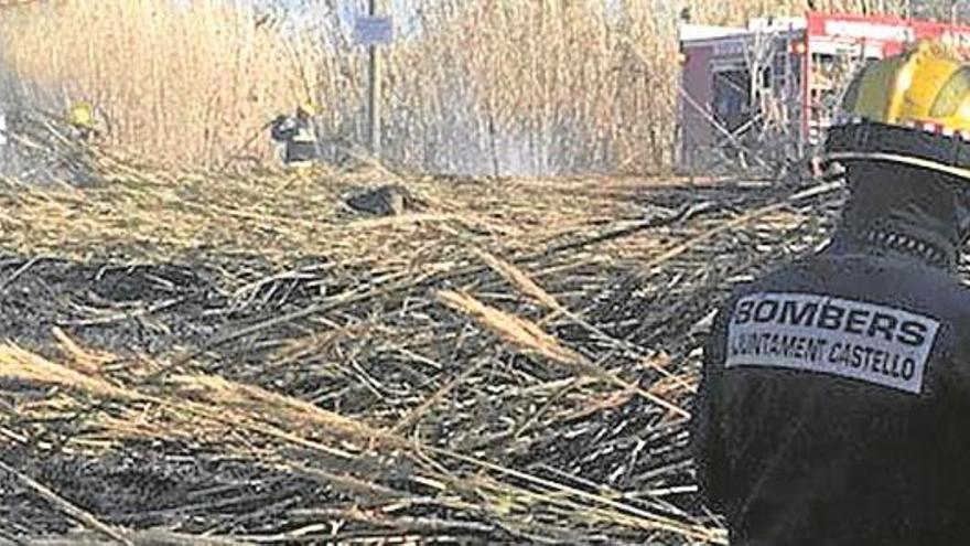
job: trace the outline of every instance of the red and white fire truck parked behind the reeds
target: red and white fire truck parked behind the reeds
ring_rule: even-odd
[[[970,26],[818,12],[745,28],[681,25],[681,165],[810,157],[851,76],[920,40],[970,52]]]

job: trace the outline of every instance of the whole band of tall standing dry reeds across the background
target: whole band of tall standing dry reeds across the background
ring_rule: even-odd
[[[870,0],[819,0],[831,11]],[[885,2],[891,9],[899,9]],[[387,2],[390,3],[390,2]],[[677,24],[797,14],[791,0],[408,0],[386,49],[385,159],[478,173],[646,172],[671,162]],[[118,148],[183,164],[268,159],[263,125],[312,98],[324,150],[366,142],[366,55],[347,13],[230,0],[64,0],[0,9],[0,93],[88,99]],[[880,4],[882,6],[882,3]],[[3,78],[0,76],[0,85]]]

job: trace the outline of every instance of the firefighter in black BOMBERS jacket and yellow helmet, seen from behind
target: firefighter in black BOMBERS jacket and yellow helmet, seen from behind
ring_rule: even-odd
[[[732,545],[970,544],[970,66],[920,44],[863,69],[843,115],[832,240],[714,321],[701,493]]]

